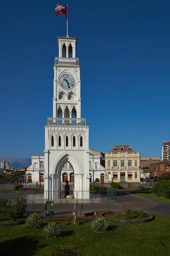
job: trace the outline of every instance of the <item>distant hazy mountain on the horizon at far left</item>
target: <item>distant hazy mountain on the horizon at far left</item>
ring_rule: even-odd
[[[18,157],[0,157],[0,162],[9,162],[9,167],[26,168],[31,165],[31,158],[18,158]]]

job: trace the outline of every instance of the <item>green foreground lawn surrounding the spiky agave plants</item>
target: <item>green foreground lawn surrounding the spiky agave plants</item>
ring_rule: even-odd
[[[117,223],[108,220],[107,233],[93,233],[91,221],[76,226],[59,222],[62,236],[45,240],[42,229],[29,230],[25,224],[0,227],[0,253],[12,256],[49,256],[55,245],[77,248],[81,256],[169,256],[170,217],[155,215],[148,223]]]

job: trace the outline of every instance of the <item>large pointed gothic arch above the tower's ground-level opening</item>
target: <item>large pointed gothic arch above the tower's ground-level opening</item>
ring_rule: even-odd
[[[69,162],[73,167],[74,174],[83,175],[82,163],[80,162],[78,157],[70,151],[64,151],[62,154],[59,155],[59,157],[57,157],[51,169],[51,174],[61,175],[62,167],[67,162]]]

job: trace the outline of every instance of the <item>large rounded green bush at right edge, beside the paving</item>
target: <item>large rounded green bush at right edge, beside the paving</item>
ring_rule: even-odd
[[[170,198],[170,180],[160,180],[152,188],[152,192],[164,198]]]

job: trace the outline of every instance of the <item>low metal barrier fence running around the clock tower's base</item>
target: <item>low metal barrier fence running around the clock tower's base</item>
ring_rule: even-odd
[[[3,191],[0,193],[3,198],[15,200],[17,197],[26,197],[27,201],[45,201],[53,200],[59,201],[61,203],[65,201],[105,201],[109,202],[111,200],[116,200],[116,190],[106,188],[104,186],[99,186],[98,191],[65,191],[65,190],[55,190],[55,191]]]

